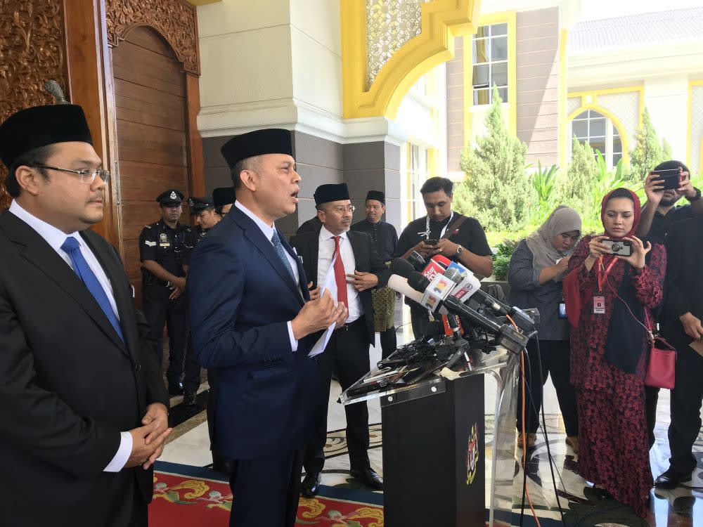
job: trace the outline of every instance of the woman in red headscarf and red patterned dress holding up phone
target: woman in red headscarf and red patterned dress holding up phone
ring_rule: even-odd
[[[644,378],[649,345],[645,309],[662,301],[666,252],[634,235],[640,200],[618,188],[602,200],[605,233],[585,236],[564,279],[572,323],[571,381],[579,410],[583,478],[645,516],[652,488]],[[631,256],[613,256],[604,240],[629,242]]]

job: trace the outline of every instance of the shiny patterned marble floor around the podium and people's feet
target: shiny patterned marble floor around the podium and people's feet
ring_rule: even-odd
[[[398,320],[398,341],[402,344],[412,338],[407,311],[396,313]],[[400,325],[401,320],[406,325]],[[380,345],[371,349],[371,363],[380,359]],[[496,398],[496,384],[486,378],[485,412],[486,412],[486,460],[491,460],[493,412]],[[205,467],[212,463],[209,452],[207,422],[205,422],[205,405],[207,403],[207,381],[204,380],[198,395],[196,407],[185,407],[182,398],[172,398],[172,419],[175,420],[174,432],[169,438],[161,460],[180,464]],[[344,408],[337,403],[340,386],[333,382],[330,391],[328,412],[328,444],[325,447],[325,469],[322,483],[325,486],[362,489],[356,480],[349,476],[349,457],[344,439]],[[532,505],[540,519],[550,519],[546,523],[555,525],[555,521],[565,526],[656,526],[656,527],[700,527],[703,526],[703,433],[695,444],[698,459],[697,469],[692,481],[675,490],[655,490],[650,494],[650,510],[643,521],[626,507],[596,502],[591,487],[576,473],[578,456],[565,443],[565,430],[560,417],[556,394],[551,381],[544,387],[544,412],[546,414],[547,441],[540,430],[536,448],[529,451],[526,465],[527,490]],[[381,411],[378,400],[368,402],[370,423],[369,458],[373,469],[382,474],[382,435]],[[669,426],[669,391],[662,390],[657,408],[657,437],[650,451],[652,473],[654,477],[665,471],[669,460],[669,445],[666,430]],[[548,454],[549,450],[549,454]],[[522,510],[522,450],[511,447],[502,452],[503,462],[498,464],[496,504],[503,510],[512,512],[510,523],[520,525]],[[500,457],[500,456],[499,456]],[[508,465],[505,464],[505,459]],[[511,459],[512,458],[512,459]],[[490,480],[491,466],[486,462],[486,482]],[[506,468],[506,467],[511,467]],[[555,483],[553,483],[554,474]],[[555,492],[556,488],[556,492]],[[489,486],[486,483],[486,503],[489,502]],[[529,506],[524,514],[531,516]],[[543,522],[544,524],[544,522]]]

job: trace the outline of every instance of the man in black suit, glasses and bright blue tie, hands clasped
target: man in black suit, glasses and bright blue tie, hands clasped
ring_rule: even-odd
[[[146,526],[168,395],[122,261],[89,226],[105,181],[76,105],[0,124],[2,522]]]

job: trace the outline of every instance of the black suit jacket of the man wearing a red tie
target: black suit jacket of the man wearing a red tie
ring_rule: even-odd
[[[373,273],[378,276],[378,286],[383,287],[388,283],[390,271],[386,264],[378,256],[373,248],[373,240],[367,233],[360,233],[356,230],[347,231],[349,243],[352,245],[354,260],[356,261],[356,271]],[[290,245],[295,247],[298,255],[302,257],[305,275],[313,282],[313,288],[317,287],[317,263],[320,249],[320,232],[304,233],[290,238]],[[371,289],[366,289],[359,293],[363,316],[366,320],[366,332],[368,343],[373,346],[375,342],[373,332],[373,302],[371,300]]]

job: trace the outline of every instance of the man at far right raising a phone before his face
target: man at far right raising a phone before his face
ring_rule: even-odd
[[[663,181],[658,173],[664,170],[680,171],[680,188],[661,190]],[[647,236],[652,242],[663,243],[672,223],[703,214],[701,191],[692,186],[688,167],[680,161],[665,161],[654,167],[645,179],[645,193],[647,202],[642,209],[637,235]],[[677,206],[676,202],[682,196],[688,200],[688,204]]]

